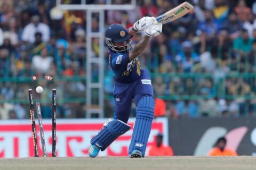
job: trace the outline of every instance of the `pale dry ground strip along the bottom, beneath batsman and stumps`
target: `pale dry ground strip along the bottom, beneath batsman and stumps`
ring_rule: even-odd
[[[147,158],[127,158],[127,157],[99,157],[99,158],[2,158],[0,159],[0,169],[256,169],[256,157],[147,157]]]

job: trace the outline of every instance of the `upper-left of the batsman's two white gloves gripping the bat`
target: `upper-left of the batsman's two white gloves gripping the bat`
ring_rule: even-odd
[[[155,17],[144,16],[142,19],[133,24],[133,29],[136,31],[146,31],[148,27],[155,23]]]

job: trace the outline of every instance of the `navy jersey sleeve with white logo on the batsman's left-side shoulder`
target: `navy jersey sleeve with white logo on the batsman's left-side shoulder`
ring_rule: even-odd
[[[120,70],[124,67],[127,67],[127,64],[130,62],[129,53],[118,53],[113,56],[111,61],[113,70]]]

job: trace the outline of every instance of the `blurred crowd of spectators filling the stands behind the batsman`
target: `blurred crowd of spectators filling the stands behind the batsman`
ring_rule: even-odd
[[[105,4],[103,0],[87,3]],[[158,16],[183,1],[138,0],[135,11],[106,11],[105,27],[126,28],[143,16]],[[191,0],[194,11],[163,26],[140,56],[155,90],[155,116],[253,116],[256,112],[256,1]],[[64,4],[79,4],[66,0]],[[114,4],[125,4],[116,0]],[[129,3],[129,1],[127,1]],[[99,30],[98,15],[91,22]],[[133,45],[143,36],[132,38]],[[99,39],[92,39],[99,55]],[[113,73],[105,57],[105,116],[113,116]],[[38,81],[32,81],[36,75]],[[50,75],[58,81],[41,79]],[[98,70],[93,70],[98,80]],[[44,88],[43,117],[51,117],[57,88],[58,116],[86,114],[86,11],[62,11],[55,1],[0,0],[0,118],[28,118],[29,88]],[[97,96],[97,95],[95,95]],[[97,98],[95,98],[97,100]],[[133,106],[133,114],[135,106]]]

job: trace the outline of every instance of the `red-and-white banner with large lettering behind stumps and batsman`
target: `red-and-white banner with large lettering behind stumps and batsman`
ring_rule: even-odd
[[[90,140],[107,122],[102,119],[57,119],[57,157],[81,157],[88,155]],[[157,118],[153,124],[148,140],[148,148],[155,143],[158,132],[164,134],[164,143],[168,142],[167,118]],[[132,137],[135,118],[130,118],[131,130],[114,141],[100,156],[128,156],[128,148]],[[36,120],[37,123],[37,120]],[[52,156],[52,120],[43,120],[46,150]],[[39,156],[42,156],[42,146],[37,124],[37,143]],[[30,120],[0,121],[0,158],[34,157],[34,146]]]

